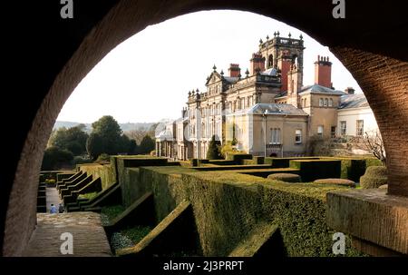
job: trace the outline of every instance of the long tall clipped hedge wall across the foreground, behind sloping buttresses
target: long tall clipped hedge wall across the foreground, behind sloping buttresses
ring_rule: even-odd
[[[143,167],[140,183],[151,184],[158,217],[165,217],[180,201],[190,201],[204,256],[227,256],[265,222],[277,223],[287,256],[334,256],[335,231],[325,222],[325,195],[345,187],[271,184],[236,172],[189,171]],[[346,247],[345,256],[362,255],[347,236]]]

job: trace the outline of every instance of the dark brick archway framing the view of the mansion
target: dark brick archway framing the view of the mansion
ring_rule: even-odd
[[[97,2],[92,4],[98,5]],[[331,1],[317,5],[313,0],[300,3],[296,0],[160,0],[154,3],[111,0],[97,11],[98,15],[83,19],[86,27],[78,23],[77,29],[72,28],[73,33],[67,35],[79,43],[61,45],[59,54],[65,59],[47,68],[47,63],[52,63],[51,59],[57,54],[44,57],[44,78],[50,84],[31,83],[35,91],[33,98],[41,105],[26,106],[24,120],[31,126],[19,133],[21,144],[12,151],[19,157],[11,163],[12,169],[5,177],[10,181],[2,182],[5,184],[2,194],[5,207],[1,210],[5,220],[1,221],[0,228],[3,254],[21,255],[34,230],[35,191],[44,147],[74,87],[104,55],[131,35],[148,25],[200,10],[228,8],[270,16],[328,45],[354,75],[374,111],[388,157],[389,193],[408,196],[408,143],[405,142],[408,134],[408,64],[403,60],[408,44],[406,40],[399,40],[399,35],[408,30],[403,8],[386,5],[383,1],[347,2],[346,19],[340,20],[333,18],[333,7]],[[377,18],[386,20],[377,22]],[[78,20],[81,23],[82,19]]]

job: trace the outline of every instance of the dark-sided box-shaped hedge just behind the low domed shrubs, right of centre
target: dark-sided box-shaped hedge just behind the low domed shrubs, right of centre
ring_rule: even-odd
[[[339,160],[293,160],[290,167],[300,170],[303,182],[318,179],[340,178],[341,161]]]

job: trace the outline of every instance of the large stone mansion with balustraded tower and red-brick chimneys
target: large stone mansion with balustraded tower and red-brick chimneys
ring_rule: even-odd
[[[259,41],[246,72],[230,64],[227,75],[214,65],[207,90],[190,91],[181,118],[157,134],[156,154],[204,159],[214,135],[253,155],[300,156],[311,136],[362,135],[376,128],[364,94],[335,90],[328,57],[317,56],[315,83],[303,84],[304,50],[302,35],[277,32]]]

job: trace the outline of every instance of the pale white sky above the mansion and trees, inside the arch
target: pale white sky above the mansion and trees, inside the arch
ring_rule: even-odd
[[[205,92],[215,64],[228,74],[231,63],[241,74],[249,59],[279,31],[303,35],[304,85],[314,83],[317,54],[329,56],[337,90],[361,88],[327,47],[309,35],[263,15],[239,11],[206,11],[182,15],[151,25],[119,44],[83,78],[63,105],[58,121],[93,123],[112,115],[119,123],[153,123],[177,119],[192,89]]]

